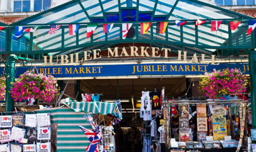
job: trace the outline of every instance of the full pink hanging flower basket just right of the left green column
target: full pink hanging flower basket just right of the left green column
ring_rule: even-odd
[[[58,92],[52,75],[34,74],[26,71],[13,83],[11,97],[14,101],[28,100],[34,98],[43,102],[50,102]]]

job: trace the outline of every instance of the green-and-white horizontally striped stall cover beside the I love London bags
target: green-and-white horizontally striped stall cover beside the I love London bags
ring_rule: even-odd
[[[91,142],[78,126],[81,125],[89,130],[92,130],[92,127],[84,118],[84,112],[75,112],[70,108],[52,108],[37,110],[36,113],[50,113],[53,151],[86,151]]]

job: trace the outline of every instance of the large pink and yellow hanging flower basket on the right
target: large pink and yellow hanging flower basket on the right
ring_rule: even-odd
[[[246,91],[248,77],[237,68],[224,69],[205,73],[201,78],[199,88],[210,99],[219,98],[220,95],[241,95]]]

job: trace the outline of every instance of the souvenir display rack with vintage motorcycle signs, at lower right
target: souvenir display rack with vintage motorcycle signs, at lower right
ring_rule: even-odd
[[[245,100],[164,100],[164,111],[167,111],[164,113],[167,115],[164,117],[165,146],[173,151],[183,148],[185,151],[228,149],[238,152],[246,134],[247,103]],[[192,124],[197,134],[192,133]],[[178,135],[173,135],[175,129]],[[197,140],[192,136],[197,136]]]

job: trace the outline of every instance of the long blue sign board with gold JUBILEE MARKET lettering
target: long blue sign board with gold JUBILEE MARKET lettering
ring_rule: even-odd
[[[95,76],[142,76],[142,75],[200,75],[212,72],[213,69],[239,68],[249,74],[248,63],[219,63],[219,65],[201,63],[152,63],[152,64],[120,64],[120,65],[72,65],[44,67],[16,67],[15,76],[19,77],[27,70],[34,73],[51,74],[55,78],[95,77]],[[3,71],[4,68],[0,69]]]

